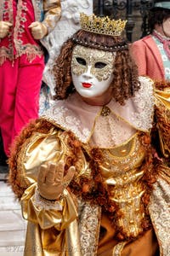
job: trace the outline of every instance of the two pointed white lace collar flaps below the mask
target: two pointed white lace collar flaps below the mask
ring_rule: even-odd
[[[128,99],[124,106],[111,100],[106,106],[111,113],[127,122],[139,131],[149,131],[153,120],[153,82],[145,77],[139,77],[141,88],[135,96]],[[77,93],[63,101],[54,102],[54,105],[43,114],[43,118],[52,121],[65,130],[72,131],[82,143],[88,143],[98,119],[101,106],[91,106],[82,101]],[[126,132],[126,131],[125,131]]]

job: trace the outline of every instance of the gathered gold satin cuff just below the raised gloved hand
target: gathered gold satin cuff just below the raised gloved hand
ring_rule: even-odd
[[[77,208],[71,194],[66,189],[59,201],[39,199],[36,189],[36,183],[32,184],[21,198],[23,218],[39,224],[42,230],[52,227],[64,230],[77,218]]]

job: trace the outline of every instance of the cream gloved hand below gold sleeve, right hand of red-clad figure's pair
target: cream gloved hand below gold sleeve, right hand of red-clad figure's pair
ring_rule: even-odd
[[[31,34],[34,39],[42,39],[48,34],[47,26],[43,25],[39,21],[32,22],[28,27],[31,28]]]

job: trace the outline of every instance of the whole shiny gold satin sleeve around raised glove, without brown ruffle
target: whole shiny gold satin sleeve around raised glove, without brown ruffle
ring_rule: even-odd
[[[21,197],[23,217],[39,224],[42,229],[54,226],[65,229],[77,218],[77,209],[71,194],[65,189],[59,201],[43,201],[37,195],[37,173],[39,166],[48,161],[65,160],[70,153],[65,132],[52,127],[48,133],[34,132],[20,149],[18,157],[18,182],[27,189]]]

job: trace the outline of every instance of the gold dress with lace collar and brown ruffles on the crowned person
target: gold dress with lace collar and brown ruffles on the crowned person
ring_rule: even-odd
[[[89,106],[75,93],[21,133],[9,181],[28,220],[26,256],[168,255],[169,177],[152,160],[152,82],[139,79],[125,106]],[[60,160],[76,173],[47,201],[38,166]]]

